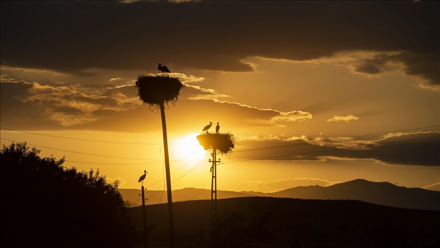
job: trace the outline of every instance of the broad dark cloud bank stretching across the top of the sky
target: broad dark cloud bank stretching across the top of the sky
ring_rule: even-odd
[[[250,71],[241,59],[403,51],[396,59],[407,75],[438,85],[439,7],[438,1],[2,1],[0,62],[81,75],[92,67],[154,71],[157,63],[172,71]]]

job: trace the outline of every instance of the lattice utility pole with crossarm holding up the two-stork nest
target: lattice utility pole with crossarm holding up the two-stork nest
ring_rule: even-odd
[[[211,225],[210,225],[210,234],[211,234],[211,247],[217,246],[217,238],[216,238],[216,229],[217,229],[217,163],[220,162],[220,159],[217,161],[217,150],[216,148],[212,148],[212,161],[209,159],[209,162],[212,162],[211,166]],[[215,196],[214,196],[215,195]]]

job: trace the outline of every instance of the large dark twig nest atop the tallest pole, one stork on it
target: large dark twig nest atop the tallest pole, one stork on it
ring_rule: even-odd
[[[135,83],[139,99],[148,104],[151,110],[159,109],[160,104],[171,103],[173,106],[178,101],[180,91],[185,89],[179,78],[158,75],[137,75]]]

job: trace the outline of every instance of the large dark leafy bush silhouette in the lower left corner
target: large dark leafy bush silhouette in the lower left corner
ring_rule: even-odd
[[[41,158],[26,142],[3,145],[3,247],[132,247],[128,202],[96,172]]]

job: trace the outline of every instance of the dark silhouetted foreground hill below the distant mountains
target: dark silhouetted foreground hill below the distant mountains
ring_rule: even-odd
[[[274,197],[217,204],[219,247],[440,247],[440,211]],[[210,200],[173,203],[176,247],[208,247],[210,207]],[[130,211],[143,230],[142,207]],[[148,246],[168,247],[168,205],[146,206],[146,215],[155,225]]]

